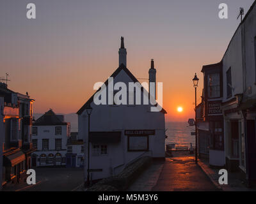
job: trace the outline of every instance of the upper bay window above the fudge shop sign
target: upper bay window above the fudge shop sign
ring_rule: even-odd
[[[220,97],[220,73],[214,73],[208,75],[208,97],[219,98]]]

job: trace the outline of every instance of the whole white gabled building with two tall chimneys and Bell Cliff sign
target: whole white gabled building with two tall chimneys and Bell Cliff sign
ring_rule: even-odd
[[[120,66],[111,75],[113,77],[113,87],[118,82],[124,82],[126,87],[129,87],[129,82],[131,82],[138,83],[138,89],[141,91],[143,88],[140,87],[140,83],[125,66],[126,50],[122,52],[122,49],[125,49],[124,38],[122,38],[119,52],[119,54],[122,54],[119,57]],[[149,74],[156,75],[154,61],[151,62],[150,69]],[[156,79],[154,76],[149,76],[149,78]],[[100,93],[100,91],[104,92],[111,88],[111,86],[107,80],[95,94]],[[116,92],[113,91],[113,98]],[[166,112],[163,108],[161,108],[160,112],[151,112],[151,105],[135,105],[136,103],[134,101],[136,101],[136,97],[141,97],[141,101],[143,101],[145,94],[142,91],[136,95],[135,89],[132,91],[133,96],[131,98],[125,98],[127,105],[109,103],[111,101],[113,102],[113,98],[108,92],[106,93],[108,105],[96,105],[93,101],[95,94],[77,112],[79,138],[83,138],[84,136],[84,175],[87,175],[88,168],[88,143],[90,145],[89,167],[91,180],[116,175],[127,164],[141,156],[164,158],[164,114]],[[147,94],[148,92],[146,92]],[[148,101],[148,95],[146,96],[146,100]],[[86,111],[88,107],[92,107],[90,121],[88,112]],[[90,122],[89,134],[88,122]],[[86,180],[87,177],[84,179]]]

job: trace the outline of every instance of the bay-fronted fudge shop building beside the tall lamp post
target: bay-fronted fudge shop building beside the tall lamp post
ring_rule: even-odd
[[[199,149],[209,149],[209,163],[225,166],[224,131],[221,102],[223,99],[222,62],[203,66],[204,91],[202,95],[202,117],[207,123],[207,132],[200,128]],[[202,123],[202,122],[201,122]]]

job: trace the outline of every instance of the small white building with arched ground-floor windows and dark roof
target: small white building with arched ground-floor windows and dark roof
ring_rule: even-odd
[[[33,122],[32,166],[65,166],[70,123],[51,109]]]

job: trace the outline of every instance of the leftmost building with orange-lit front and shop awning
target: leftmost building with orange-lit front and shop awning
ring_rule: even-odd
[[[26,170],[31,165],[31,153],[35,151],[31,143],[33,101],[28,96],[13,92],[4,83],[0,84],[3,96],[3,185],[20,182],[26,178]],[[0,124],[1,125],[1,124]],[[2,175],[1,175],[2,176]]]

